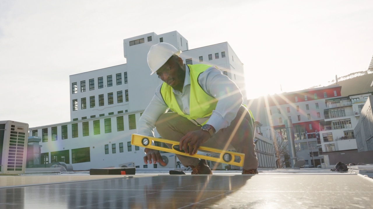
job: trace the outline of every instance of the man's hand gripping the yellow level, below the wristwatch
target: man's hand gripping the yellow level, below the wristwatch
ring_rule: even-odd
[[[180,139],[179,147],[180,150],[184,148],[185,153],[189,153],[189,155],[194,155],[197,153],[197,149],[203,144],[207,142],[210,138],[210,134],[207,131],[191,131],[188,132],[183,138]],[[189,145],[188,145],[189,144]]]

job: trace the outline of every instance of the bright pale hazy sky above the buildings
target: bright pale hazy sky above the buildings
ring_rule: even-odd
[[[123,39],[174,30],[189,49],[228,42],[254,99],[367,70],[373,1],[0,0],[0,120],[68,122],[69,75],[126,63]]]

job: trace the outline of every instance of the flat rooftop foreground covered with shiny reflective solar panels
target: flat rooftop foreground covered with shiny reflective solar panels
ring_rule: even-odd
[[[0,208],[373,208],[373,179],[329,169],[0,176]]]

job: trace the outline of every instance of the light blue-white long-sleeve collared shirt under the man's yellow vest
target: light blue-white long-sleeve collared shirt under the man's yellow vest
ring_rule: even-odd
[[[201,73],[198,83],[208,95],[218,100],[216,109],[213,110],[207,124],[212,125],[216,132],[228,127],[243,102],[241,91],[237,85],[216,67],[210,67]],[[137,123],[137,134],[154,137],[154,128],[156,128],[155,124],[158,118],[169,109],[160,93],[161,86],[157,87],[153,99],[141,115]],[[173,89],[173,93],[180,109],[186,115],[189,115],[190,86],[189,67],[185,65],[183,90],[180,92]]]

